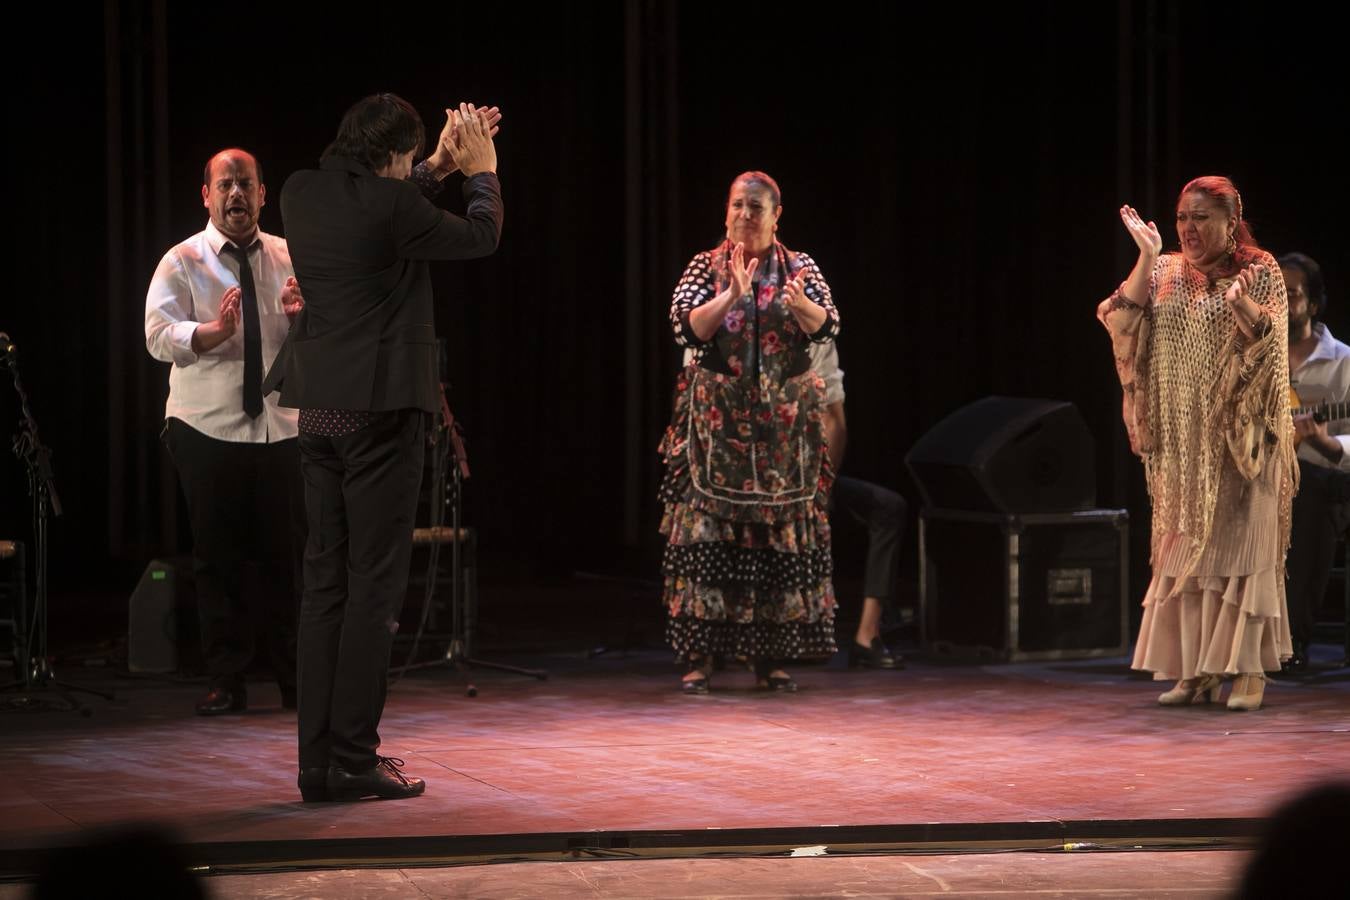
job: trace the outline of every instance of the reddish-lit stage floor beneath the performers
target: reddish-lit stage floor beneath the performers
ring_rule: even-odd
[[[294,714],[270,684],[250,685],[243,715],[197,718],[200,680],[61,672],[116,698],[81,695],[88,718],[0,714],[7,870],[84,830],[146,820],[171,827],[212,870],[236,872],[798,845],[938,855],[1208,846],[1253,834],[1301,788],[1350,777],[1350,671],[1330,656],[1312,677],[1272,680],[1257,712],[1161,708],[1165,685],[1123,658],[911,658],[899,672],[837,660],[794,669],[795,695],[755,691],[732,669],[703,698],[678,692],[660,650],[504,661],[549,677],[433,668],[392,690],[382,752],[428,789],[362,804],[300,803]],[[1230,872],[1219,855],[1231,854],[1202,868]]]

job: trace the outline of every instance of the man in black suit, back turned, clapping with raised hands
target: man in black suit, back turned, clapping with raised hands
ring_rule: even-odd
[[[300,792],[417,796],[383,757],[379,718],[408,588],[427,417],[440,409],[429,262],[497,248],[495,108],[447,109],[432,154],[421,117],[382,93],[343,116],[317,170],[281,192],[305,309],[263,385],[300,409],[309,540],[300,610]],[[463,217],[431,202],[466,175]]]

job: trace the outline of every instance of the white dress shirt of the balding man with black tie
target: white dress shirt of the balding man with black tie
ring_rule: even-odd
[[[262,331],[262,370],[267,371],[286,340],[290,320],[281,306],[281,289],[294,274],[286,242],[262,231],[248,251],[258,291]],[[243,321],[219,347],[197,354],[192,335],[197,325],[215,321],[220,297],[239,285],[239,262],[221,247],[231,243],[213,224],[173,247],[150,279],[146,294],[146,348],[155,359],[173,363],[165,418],[178,418],[221,441],[265,444],[296,436],[297,410],[277,406],[275,393],[263,397],[263,412],[250,418],[243,409]]]

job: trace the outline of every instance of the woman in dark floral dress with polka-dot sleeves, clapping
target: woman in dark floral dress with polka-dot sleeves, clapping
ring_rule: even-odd
[[[825,390],[806,348],[838,314],[815,262],[775,239],[772,178],[732,182],[726,239],[694,256],[671,302],[693,362],[662,441],[667,638],[706,694],[713,661],[753,660],[757,685],[795,691],[786,660],[834,652]]]

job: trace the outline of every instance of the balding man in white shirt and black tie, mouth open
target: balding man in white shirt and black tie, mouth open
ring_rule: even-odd
[[[201,201],[205,229],[163,255],[146,294],[146,347],[171,363],[163,440],[188,501],[211,676],[196,710],[247,707],[255,618],[282,706],[294,708],[304,551],[296,410],[263,397],[261,385],[304,300],[286,242],[258,228],[266,188],[251,154],[212,157]],[[250,563],[255,583],[244,576]]]

